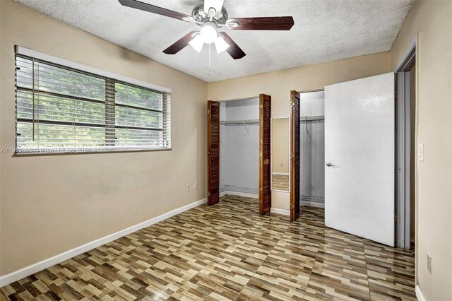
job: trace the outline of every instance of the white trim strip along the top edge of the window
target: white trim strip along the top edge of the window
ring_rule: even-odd
[[[112,73],[109,71],[105,71],[102,69],[97,69],[95,67],[91,67],[91,66],[86,66],[83,64],[79,64],[73,61],[68,61],[67,59],[61,59],[59,57],[53,57],[52,55],[49,54],[44,54],[42,52],[37,52],[36,50],[32,50],[32,49],[28,49],[22,46],[18,46],[16,45],[16,54],[23,54],[26,55],[28,57],[34,57],[35,59],[42,59],[43,61],[49,61],[51,63],[54,64],[59,64],[62,66],[66,66],[66,67],[71,67],[73,69],[78,69],[81,71],[85,71],[85,72],[89,72],[89,73],[94,73],[100,76],[106,76],[109,78],[114,78],[117,79],[118,81],[124,81],[126,83],[131,83],[133,85],[139,85],[141,87],[144,88],[149,88],[152,90],[157,90],[160,92],[166,92],[166,93],[171,93],[171,89],[169,88],[165,88],[162,87],[160,85],[153,85],[152,83],[146,83],[145,81],[139,81],[138,79],[135,78],[129,78],[127,76],[121,76],[119,74],[116,73]]]

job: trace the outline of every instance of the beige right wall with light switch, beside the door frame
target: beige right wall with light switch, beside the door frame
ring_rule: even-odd
[[[391,49],[396,68],[417,35],[417,281],[427,300],[452,298],[452,1],[415,1]],[[432,274],[427,271],[432,255]]]

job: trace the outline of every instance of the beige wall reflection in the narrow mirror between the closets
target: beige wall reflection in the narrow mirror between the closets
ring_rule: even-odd
[[[289,173],[289,119],[272,119],[272,172]]]

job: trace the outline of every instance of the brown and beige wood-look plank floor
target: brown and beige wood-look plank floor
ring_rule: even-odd
[[[225,196],[0,289],[1,300],[415,300],[412,252]]]

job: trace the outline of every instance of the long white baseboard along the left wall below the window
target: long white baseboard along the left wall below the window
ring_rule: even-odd
[[[8,273],[4,276],[0,276],[0,288],[18,281],[22,278],[28,277],[34,273],[44,270],[45,268],[49,268],[50,266],[54,266],[55,264],[59,264],[62,261],[67,259],[71,259],[73,256],[77,256],[83,254],[85,252],[90,251],[91,249],[95,249],[102,244],[107,244],[108,242],[112,242],[113,240],[117,240],[119,237],[123,237],[129,235],[132,232],[136,232],[143,228],[146,228],[150,225],[158,223],[162,220],[166,220],[167,218],[171,218],[172,216],[176,216],[179,213],[187,211],[196,206],[200,206],[204,203],[207,203],[207,199],[202,199],[200,201],[195,201],[194,203],[189,203],[186,206],[182,206],[180,208],[174,209],[167,213],[162,214],[161,216],[157,216],[155,218],[151,218],[150,220],[145,220],[143,223],[139,223],[137,225],[133,225],[124,230],[120,230],[113,234],[102,237],[98,240],[94,240],[93,242],[88,242],[88,244],[83,244],[80,247],[76,247],[74,249],[70,249],[69,251],[63,252],[56,256],[50,257],[48,259],[44,259],[43,261],[37,262],[36,264],[32,264],[31,266],[26,266],[25,268],[20,268],[18,271],[14,271],[12,273]]]

